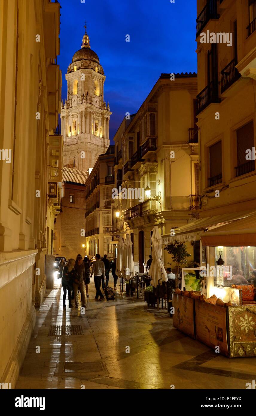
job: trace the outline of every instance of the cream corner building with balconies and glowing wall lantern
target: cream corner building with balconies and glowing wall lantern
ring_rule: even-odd
[[[111,233],[114,240],[130,233],[138,272],[145,271],[151,254],[153,226],[158,225],[161,235],[170,235],[196,217],[200,208],[197,75],[171,78],[161,75],[138,112],[123,120],[114,137],[115,183],[123,196],[113,200]],[[167,267],[167,252],[163,258]]]

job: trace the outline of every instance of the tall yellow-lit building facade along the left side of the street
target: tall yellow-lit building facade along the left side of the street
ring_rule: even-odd
[[[0,2],[0,378],[12,388],[34,328],[34,305],[44,296],[58,211],[47,165],[60,111],[59,7],[47,0]]]

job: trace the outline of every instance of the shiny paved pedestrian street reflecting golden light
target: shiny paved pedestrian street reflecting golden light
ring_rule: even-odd
[[[254,379],[253,358],[216,354],[173,328],[167,310],[121,297],[119,285],[115,301],[97,302],[94,279],[89,293],[80,314],[67,299],[63,309],[59,280],[47,290],[16,389],[245,389]]]

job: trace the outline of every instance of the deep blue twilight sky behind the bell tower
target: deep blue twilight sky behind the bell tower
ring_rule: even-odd
[[[113,112],[110,139],[125,113],[138,111],[161,73],[197,72],[196,0],[59,0],[62,99],[65,74],[81,48],[84,22],[91,49],[98,54],[106,81],[104,99]],[[130,42],[126,42],[130,35]]]

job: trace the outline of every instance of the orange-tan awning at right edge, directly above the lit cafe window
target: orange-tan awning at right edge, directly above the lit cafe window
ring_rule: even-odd
[[[256,213],[200,234],[202,245],[256,246]]]

